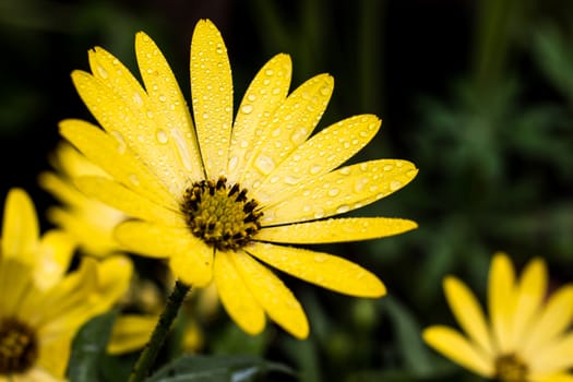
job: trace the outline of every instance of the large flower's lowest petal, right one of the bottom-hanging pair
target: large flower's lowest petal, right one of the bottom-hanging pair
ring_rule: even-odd
[[[242,279],[268,317],[295,337],[309,335],[309,322],[300,306],[285,284],[266,266],[244,252],[228,252]]]

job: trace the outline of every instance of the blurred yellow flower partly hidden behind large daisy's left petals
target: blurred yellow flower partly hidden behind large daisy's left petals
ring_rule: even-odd
[[[106,172],[65,141],[58,144],[50,164],[55,171],[43,171],[38,182],[62,205],[48,210],[48,220],[72,234],[84,254],[103,258],[121,250],[112,234],[114,228],[128,216],[86,196],[72,182],[79,176],[106,176]]]

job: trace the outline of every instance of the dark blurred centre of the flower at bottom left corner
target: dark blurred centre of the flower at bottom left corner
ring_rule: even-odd
[[[20,320],[0,321],[0,375],[25,372],[37,358],[36,332]]]

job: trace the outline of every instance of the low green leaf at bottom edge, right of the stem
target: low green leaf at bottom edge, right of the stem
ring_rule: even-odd
[[[247,382],[268,372],[295,374],[289,367],[258,356],[184,355],[160,368],[146,382]]]

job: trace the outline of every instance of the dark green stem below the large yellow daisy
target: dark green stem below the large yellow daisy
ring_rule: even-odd
[[[180,280],[175,283],[174,290],[167,299],[167,303],[157,321],[157,325],[153,330],[150,342],[142,350],[140,358],[131,372],[128,380],[129,382],[140,382],[148,375],[150,370],[155,362],[155,358],[157,358],[157,354],[159,353],[167,334],[169,334],[169,331],[171,330],[171,324],[179,312],[179,308],[190,289],[191,286],[183,284]]]

